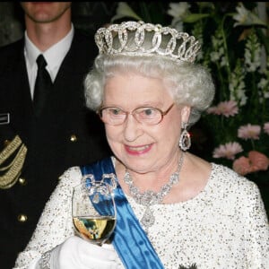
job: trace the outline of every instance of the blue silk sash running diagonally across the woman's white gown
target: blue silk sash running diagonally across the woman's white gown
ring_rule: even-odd
[[[116,175],[110,157],[82,166],[81,170],[82,175],[92,174],[96,181],[101,180],[103,174],[114,173]],[[123,264],[127,269],[163,269],[159,256],[134,215],[118,182],[114,195],[117,206],[117,225],[111,239]]]

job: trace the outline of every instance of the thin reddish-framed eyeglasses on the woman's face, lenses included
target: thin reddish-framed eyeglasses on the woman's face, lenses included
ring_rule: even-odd
[[[97,113],[100,115],[101,120],[110,126],[122,125],[126,121],[128,114],[133,115],[137,122],[141,124],[154,126],[161,123],[162,118],[169,113],[173,106],[174,103],[166,111],[161,111],[160,108],[140,107],[131,112],[124,111],[122,108],[102,107]]]

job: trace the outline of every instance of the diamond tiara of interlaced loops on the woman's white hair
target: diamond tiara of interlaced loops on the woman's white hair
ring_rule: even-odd
[[[150,44],[145,44],[147,36]],[[164,41],[165,40],[165,41]],[[122,22],[111,24],[108,28],[100,28],[95,34],[95,42],[100,55],[128,56],[168,56],[177,62],[195,61],[195,56],[201,48],[195,37],[187,32],[178,32],[161,24],[145,22]]]

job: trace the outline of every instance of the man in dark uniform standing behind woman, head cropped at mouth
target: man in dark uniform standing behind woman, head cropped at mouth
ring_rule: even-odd
[[[74,29],[71,2],[21,4],[24,37],[0,48],[0,258],[4,269],[13,267],[18,252],[30,240],[63,171],[110,154],[100,119],[84,105],[83,78],[97,53],[93,37]],[[45,91],[44,78],[37,82],[40,54],[46,69],[42,72],[49,81]],[[39,96],[35,91],[41,92]]]

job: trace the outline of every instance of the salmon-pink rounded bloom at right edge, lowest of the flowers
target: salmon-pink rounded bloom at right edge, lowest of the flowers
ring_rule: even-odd
[[[234,169],[239,175],[245,176],[260,170],[266,170],[269,166],[269,160],[265,154],[261,152],[251,151],[248,152],[248,158],[240,157],[232,164]]]

